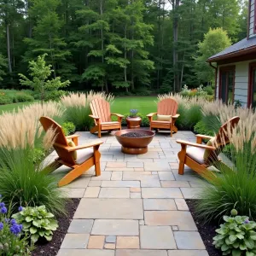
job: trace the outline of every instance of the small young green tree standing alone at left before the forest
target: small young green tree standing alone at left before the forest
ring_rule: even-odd
[[[29,69],[31,71],[30,75],[32,80],[27,79],[25,75],[20,75],[20,84],[31,87],[33,90],[40,93],[41,102],[47,97],[54,97],[58,99],[63,95],[63,92],[59,90],[60,88],[66,87],[70,82],[67,80],[61,82],[61,78],[57,77],[55,79],[49,80],[49,76],[52,73],[51,65],[46,66],[45,58],[46,54],[39,55],[37,61],[29,62]]]

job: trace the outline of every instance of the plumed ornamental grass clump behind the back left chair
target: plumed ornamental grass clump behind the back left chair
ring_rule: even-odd
[[[89,131],[93,125],[94,120],[89,117],[90,102],[96,98],[102,98],[108,102],[113,101],[112,95],[92,90],[89,93],[70,93],[68,96],[61,97],[61,102],[66,108],[67,121],[72,122],[77,131]]]

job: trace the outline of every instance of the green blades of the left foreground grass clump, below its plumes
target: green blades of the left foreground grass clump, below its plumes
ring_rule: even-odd
[[[65,212],[65,200],[57,188],[58,178],[41,172],[42,165],[34,165],[32,148],[0,148],[0,159],[0,191],[6,203],[44,205],[54,214]]]

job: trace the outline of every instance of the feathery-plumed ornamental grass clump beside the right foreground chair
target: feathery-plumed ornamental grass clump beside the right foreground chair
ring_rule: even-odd
[[[256,114],[244,111],[248,114],[247,119],[242,118],[233,134],[230,131],[227,134],[232,145],[232,159],[236,159],[234,165],[219,164],[220,172],[208,172],[204,176],[209,184],[196,204],[204,221],[229,215],[233,208],[240,215],[256,218]],[[223,118],[221,115],[220,119]]]

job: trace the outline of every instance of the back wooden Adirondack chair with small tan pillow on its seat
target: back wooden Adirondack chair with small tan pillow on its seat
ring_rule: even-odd
[[[154,120],[153,116],[158,114],[158,119]],[[160,115],[170,116],[169,120],[161,120]],[[165,99],[157,104],[157,113],[149,113],[147,115],[150,123],[150,130],[153,129],[167,129],[172,132],[177,132],[177,127],[175,126],[176,119],[179,117],[177,113],[177,102],[174,99]]]

